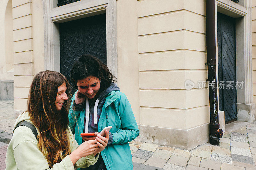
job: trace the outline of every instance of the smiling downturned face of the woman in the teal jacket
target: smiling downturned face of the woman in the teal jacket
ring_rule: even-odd
[[[100,79],[94,76],[89,76],[77,80],[77,87],[80,93],[84,94],[89,99],[92,99],[100,90]]]

